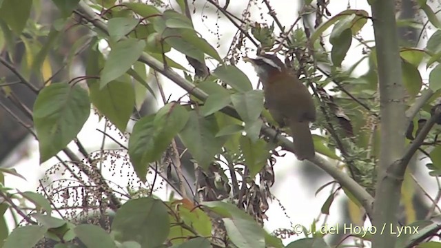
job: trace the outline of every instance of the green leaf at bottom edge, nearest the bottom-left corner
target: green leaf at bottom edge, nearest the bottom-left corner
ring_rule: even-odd
[[[37,225],[17,227],[6,239],[3,248],[32,248],[44,237],[46,231],[48,231],[48,227]]]

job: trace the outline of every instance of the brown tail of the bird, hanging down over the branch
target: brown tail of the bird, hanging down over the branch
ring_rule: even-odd
[[[307,121],[291,121],[289,128],[293,136],[294,154],[296,154],[297,159],[302,161],[304,159],[314,158],[314,156],[316,156],[316,150],[314,149],[311,130],[309,130],[309,123]]]

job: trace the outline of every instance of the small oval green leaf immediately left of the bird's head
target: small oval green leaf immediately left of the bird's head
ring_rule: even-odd
[[[219,66],[213,74],[238,92],[247,92],[253,89],[248,76],[234,65]]]

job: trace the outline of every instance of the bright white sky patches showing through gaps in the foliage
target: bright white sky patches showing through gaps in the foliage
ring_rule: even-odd
[[[189,1],[191,4],[191,1]],[[201,2],[201,1],[196,1]],[[253,7],[252,11],[252,19],[256,21],[260,21],[260,13],[266,13],[267,9],[263,3],[258,2],[261,10],[256,8],[256,6]],[[280,20],[280,22],[289,27],[291,23],[297,18],[297,12],[298,12],[298,2],[300,1],[286,1],[286,0],[273,0],[271,1],[271,5],[274,8],[274,10],[277,13],[277,17]],[[245,4],[247,1],[230,1],[229,10],[243,10],[245,9]],[[207,3],[209,6],[209,3]],[[223,1],[221,1],[221,6],[223,5]],[[334,16],[335,14],[338,14],[342,10],[347,9],[348,1],[331,1],[331,4],[329,5],[329,11]],[[370,13],[370,7],[367,4],[367,1],[349,1],[349,6],[352,9],[363,9],[367,10],[367,12]],[[212,8],[212,7],[210,7]],[[267,23],[271,23],[272,19],[269,17],[269,15],[264,15],[265,19],[268,21]],[[209,30],[215,30],[215,23],[219,23],[220,28],[220,48],[218,49],[218,52],[220,53],[220,56],[225,56],[225,53],[227,52],[229,48],[229,44],[232,40],[232,37],[234,36],[236,32],[236,28],[227,21],[225,17],[221,14],[221,19],[218,21],[216,17],[210,16],[209,19],[205,19],[204,21],[201,21],[201,13],[196,12],[193,17],[195,29],[200,32],[205,39],[209,43],[211,43],[214,47],[216,47],[217,44],[217,37],[214,34],[211,34]],[[276,28],[276,31],[277,28]],[[327,30],[328,34],[331,31],[331,28]],[[362,37],[365,40],[372,40],[373,39],[373,30],[371,26],[371,21],[368,21],[365,27],[361,31]],[[252,46],[249,46],[252,48]],[[329,47],[330,50],[330,47]],[[362,53],[362,46],[358,45],[358,42],[356,40],[353,40],[351,45],[351,50],[349,50],[345,61],[343,61],[343,65],[352,65],[355,63],[358,59],[361,58]],[[254,56],[255,52],[249,53],[249,56]],[[174,53],[171,56],[174,60],[176,60],[178,63],[181,63],[183,65],[187,65],[187,61],[185,60],[185,56],[182,56],[181,54]],[[214,64],[208,62],[207,65],[209,66],[210,70],[214,70],[215,66]],[[245,74],[249,77],[249,79],[254,83],[254,87],[256,87],[256,83],[258,82],[258,78],[252,68],[251,65],[244,63],[243,61],[238,62],[237,64],[238,68],[243,70]],[[358,66],[356,73],[362,74],[367,70],[367,61],[364,61],[363,63],[360,63]],[[182,72],[178,72],[182,74]],[[422,78],[427,79],[427,72],[422,71]],[[185,94],[185,91],[181,88],[176,87],[174,83],[167,81],[167,79],[164,79],[165,82],[165,95],[169,96],[171,94],[171,100],[176,100],[179,97],[181,97],[183,94]],[[86,149],[88,149],[89,152],[99,149],[99,146],[101,145],[101,139],[102,134],[99,132],[96,132],[96,128],[99,128],[100,130],[103,130],[103,121],[98,123],[98,119],[96,116],[92,115],[86,125],[83,127],[83,130],[79,134],[79,140],[85,144]],[[107,138],[107,142],[109,139]],[[73,151],[77,151],[77,148],[75,145],[70,144],[70,147],[72,147]],[[21,180],[14,176],[6,176],[6,186],[19,189],[21,192],[32,190],[39,185],[38,179],[43,175],[45,172],[45,168],[48,168],[48,166],[53,165],[57,163],[57,160],[51,159],[44,165],[39,166],[39,154],[38,154],[38,143],[33,140],[33,138],[28,138],[28,141],[25,145],[25,148],[21,149],[21,151],[24,151],[25,149],[29,149],[31,151],[27,157],[23,158],[17,165],[14,167],[17,169],[17,171],[25,176],[27,178],[27,182],[24,180]],[[23,155],[23,152],[19,152],[20,155]],[[64,157],[64,156],[63,156]],[[314,165],[309,165],[314,166]],[[301,167],[296,164],[296,158],[293,154],[290,154],[289,152],[286,152],[286,156],[283,158],[277,158],[276,166],[274,167],[275,173],[276,173],[276,184],[274,187],[272,187],[272,193],[280,200],[280,203],[285,207],[286,214],[289,216],[289,219],[286,218],[285,213],[280,209],[279,203],[274,201],[271,203],[269,207],[269,211],[267,211],[267,216],[269,216],[269,220],[265,223],[265,227],[268,231],[274,231],[276,228],[290,228],[291,224],[293,225],[300,224],[305,225],[309,227],[311,223],[313,222],[314,218],[317,218],[317,216],[320,214],[320,208],[322,207],[322,204],[325,203],[325,200],[329,196],[329,190],[331,187],[327,187],[322,192],[320,192],[317,196],[314,196],[314,192],[316,192],[316,189],[320,187],[321,185],[328,183],[332,180],[331,177],[328,177],[326,179],[321,179],[321,181],[314,181],[311,182],[309,178],[305,180],[305,178],[300,178],[298,175],[302,175],[300,173]],[[105,172],[105,170],[104,170]],[[110,175],[109,175],[110,176]],[[434,180],[433,178],[429,178],[429,180],[421,180],[422,185],[427,189],[428,192],[430,192],[432,195],[436,193],[436,187],[433,187]],[[124,184],[123,182],[121,182]],[[122,185],[124,186],[124,185]],[[165,195],[165,192],[162,192]],[[159,192],[157,194],[160,194]],[[334,201],[334,204],[332,205],[330,209],[330,216],[327,219],[328,225],[334,225],[336,221],[340,218],[340,205],[338,202],[342,200],[343,194],[339,194],[338,198]],[[322,224],[322,222],[319,222]],[[289,240],[294,240],[297,238],[303,238],[304,236],[294,236],[291,237]],[[289,242],[289,240],[285,240],[285,244]]]

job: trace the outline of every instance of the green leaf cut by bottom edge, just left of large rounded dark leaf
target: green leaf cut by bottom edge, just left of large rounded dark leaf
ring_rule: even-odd
[[[99,226],[90,224],[77,225],[74,231],[76,236],[88,248],[116,248],[115,242],[110,237],[110,234]]]

